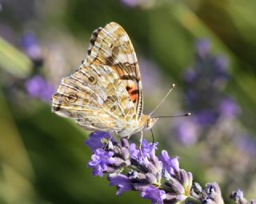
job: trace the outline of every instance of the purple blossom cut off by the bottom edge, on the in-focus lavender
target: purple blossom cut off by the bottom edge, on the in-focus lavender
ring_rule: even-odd
[[[155,186],[147,186],[145,190],[142,191],[142,198],[150,199],[151,203],[163,204],[163,199],[166,198],[166,192],[164,190],[159,190]]]

